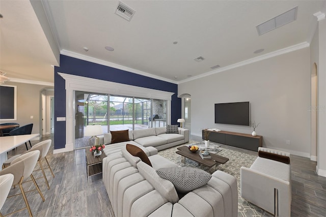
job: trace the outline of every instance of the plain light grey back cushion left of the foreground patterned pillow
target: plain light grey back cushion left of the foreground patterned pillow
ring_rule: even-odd
[[[171,181],[159,177],[155,169],[142,161],[138,162],[137,168],[142,176],[169,202],[174,204],[179,201],[178,194]]]

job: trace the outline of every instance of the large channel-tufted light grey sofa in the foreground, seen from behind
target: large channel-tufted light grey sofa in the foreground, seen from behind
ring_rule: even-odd
[[[103,182],[115,216],[237,216],[235,177],[216,171],[207,184],[180,199],[172,182],[156,173],[178,165],[156,154],[153,147],[142,149],[152,167],[125,147],[103,159]]]

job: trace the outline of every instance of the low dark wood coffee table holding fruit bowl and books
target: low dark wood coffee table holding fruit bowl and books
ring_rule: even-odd
[[[211,168],[212,170],[216,170],[216,164],[225,164],[229,160],[229,158],[227,157],[223,157],[213,153],[210,153],[210,155],[212,156],[211,159],[202,159],[199,156],[198,152],[193,153],[189,151],[187,146],[181,146],[177,149],[178,151],[176,151],[175,153],[183,156],[183,158],[181,158],[181,162],[184,162],[185,158],[189,158],[198,162],[199,164]]]

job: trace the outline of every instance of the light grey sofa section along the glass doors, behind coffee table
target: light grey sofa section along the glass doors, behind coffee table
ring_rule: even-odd
[[[179,127],[178,131],[179,133],[166,133],[166,127],[129,130],[130,141],[115,143],[114,146],[111,145],[112,134],[104,133],[99,136],[99,142],[106,145],[103,149],[106,155],[119,152],[127,143],[143,147],[153,146],[160,151],[189,142],[189,130]]]

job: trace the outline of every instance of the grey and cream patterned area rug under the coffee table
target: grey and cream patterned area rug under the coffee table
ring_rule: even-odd
[[[189,144],[196,143],[194,141],[190,141]],[[183,144],[180,146],[184,146],[187,144]],[[175,162],[176,164],[180,165],[181,167],[193,167],[193,168],[200,168],[207,172],[210,172],[207,167],[199,165],[197,162],[185,158],[184,164],[181,162],[181,155],[176,154],[177,148],[180,146],[176,146],[173,148],[169,148],[166,150],[159,151],[158,154]],[[247,167],[249,168],[257,156],[253,156],[246,153],[241,153],[239,151],[230,150],[228,148],[223,148],[221,152],[218,153],[221,156],[228,157],[229,161],[226,162],[224,165],[219,165],[216,167],[216,170],[224,171],[237,179],[238,185],[238,216],[273,216],[270,213],[266,212],[265,210],[255,206],[254,204],[243,200],[240,197],[240,168]]]

